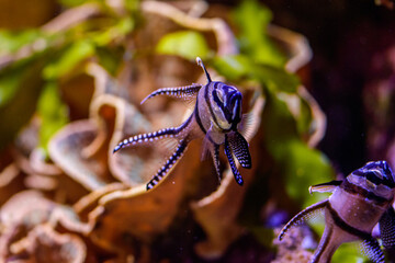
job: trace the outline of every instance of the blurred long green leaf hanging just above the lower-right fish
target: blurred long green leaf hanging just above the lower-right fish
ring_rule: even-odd
[[[320,195],[309,195],[308,187],[331,181],[334,171],[321,152],[302,140],[296,122],[278,92],[268,89],[262,118],[264,146],[283,176],[287,195],[305,207],[321,199]]]

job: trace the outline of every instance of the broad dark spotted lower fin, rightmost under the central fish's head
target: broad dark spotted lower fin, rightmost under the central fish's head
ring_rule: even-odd
[[[242,168],[251,168],[251,156],[248,149],[247,140],[238,132],[232,132],[228,135],[229,145],[236,159]]]

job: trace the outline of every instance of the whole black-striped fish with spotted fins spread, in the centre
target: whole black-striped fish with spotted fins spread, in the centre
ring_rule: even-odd
[[[241,113],[241,92],[234,85],[213,81],[201,58],[196,58],[196,64],[205,73],[206,84],[194,83],[185,87],[158,89],[142,101],[143,104],[158,95],[191,101],[194,105],[191,115],[178,127],[128,137],[120,141],[113,150],[113,152],[117,152],[122,148],[137,144],[143,145],[167,138],[176,139],[176,150],[147,183],[147,190],[153,188],[169,173],[185,152],[189,142],[196,138],[203,138],[203,156],[206,152],[212,156],[219,183],[219,147],[222,145],[238,185],[242,185],[244,180],[237,169],[235,157],[242,168],[250,169],[252,167],[249,145],[242,135],[242,132],[248,129],[249,122],[248,114]]]

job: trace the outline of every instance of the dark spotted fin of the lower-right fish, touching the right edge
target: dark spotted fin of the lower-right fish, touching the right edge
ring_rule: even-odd
[[[380,218],[379,226],[384,249],[395,254],[395,211],[392,206]]]

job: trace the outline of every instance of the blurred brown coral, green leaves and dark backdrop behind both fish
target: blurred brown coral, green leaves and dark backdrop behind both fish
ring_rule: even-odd
[[[275,241],[308,186],[395,168],[394,28],[390,0],[0,0],[1,259],[308,262],[323,220]],[[196,56],[244,94],[252,169],[222,153],[219,185],[195,140],[146,192],[171,147],[112,150],[191,114],[140,101],[204,84]]]

